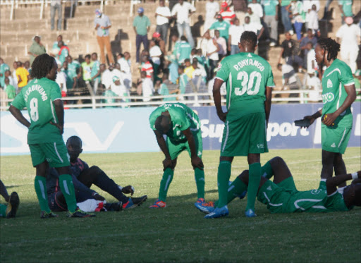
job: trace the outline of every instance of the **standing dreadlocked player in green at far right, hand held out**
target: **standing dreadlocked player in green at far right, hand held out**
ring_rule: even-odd
[[[340,44],[334,39],[319,39],[314,49],[319,68],[326,66],[322,76],[322,101],[324,106],[305,119],[312,124],[322,117],[322,172],[321,178],[346,173],[342,154],[350,139],[353,126],[351,104],[356,99],[355,80],[350,67],[337,59]]]

